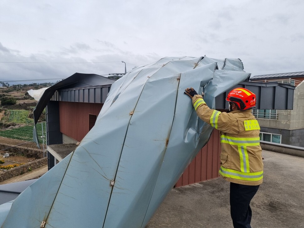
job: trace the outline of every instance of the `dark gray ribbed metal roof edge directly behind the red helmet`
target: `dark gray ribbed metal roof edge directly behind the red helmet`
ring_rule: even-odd
[[[254,109],[292,109],[293,94],[296,86],[283,83],[263,83],[243,81],[234,88],[246,88],[256,95],[256,107]],[[233,88],[232,88],[233,89]],[[216,109],[228,109],[225,98],[229,91],[215,98]]]

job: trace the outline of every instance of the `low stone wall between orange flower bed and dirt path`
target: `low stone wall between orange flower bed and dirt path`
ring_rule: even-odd
[[[0,174],[0,182],[30,172],[36,168],[40,168],[44,165],[47,165],[47,163],[48,163],[48,158],[40,158],[38,160],[17,166],[15,168],[4,170],[4,173]]]

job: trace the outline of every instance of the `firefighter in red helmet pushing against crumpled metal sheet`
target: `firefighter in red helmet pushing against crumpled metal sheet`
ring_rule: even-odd
[[[193,88],[185,94],[204,122],[221,133],[221,167],[219,174],[230,182],[230,213],[234,228],[251,228],[250,201],[263,182],[262,149],[259,123],[251,113],[255,94],[245,88],[228,93],[229,112],[210,109]]]

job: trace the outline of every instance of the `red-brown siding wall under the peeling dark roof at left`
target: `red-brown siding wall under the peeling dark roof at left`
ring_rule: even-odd
[[[98,116],[102,105],[59,101],[60,132],[80,142],[89,132],[89,114]]]

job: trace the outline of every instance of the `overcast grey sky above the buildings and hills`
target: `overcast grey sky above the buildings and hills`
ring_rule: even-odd
[[[303,11],[302,0],[1,0],[0,81],[123,73],[121,61],[128,71],[166,56],[304,71]]]

